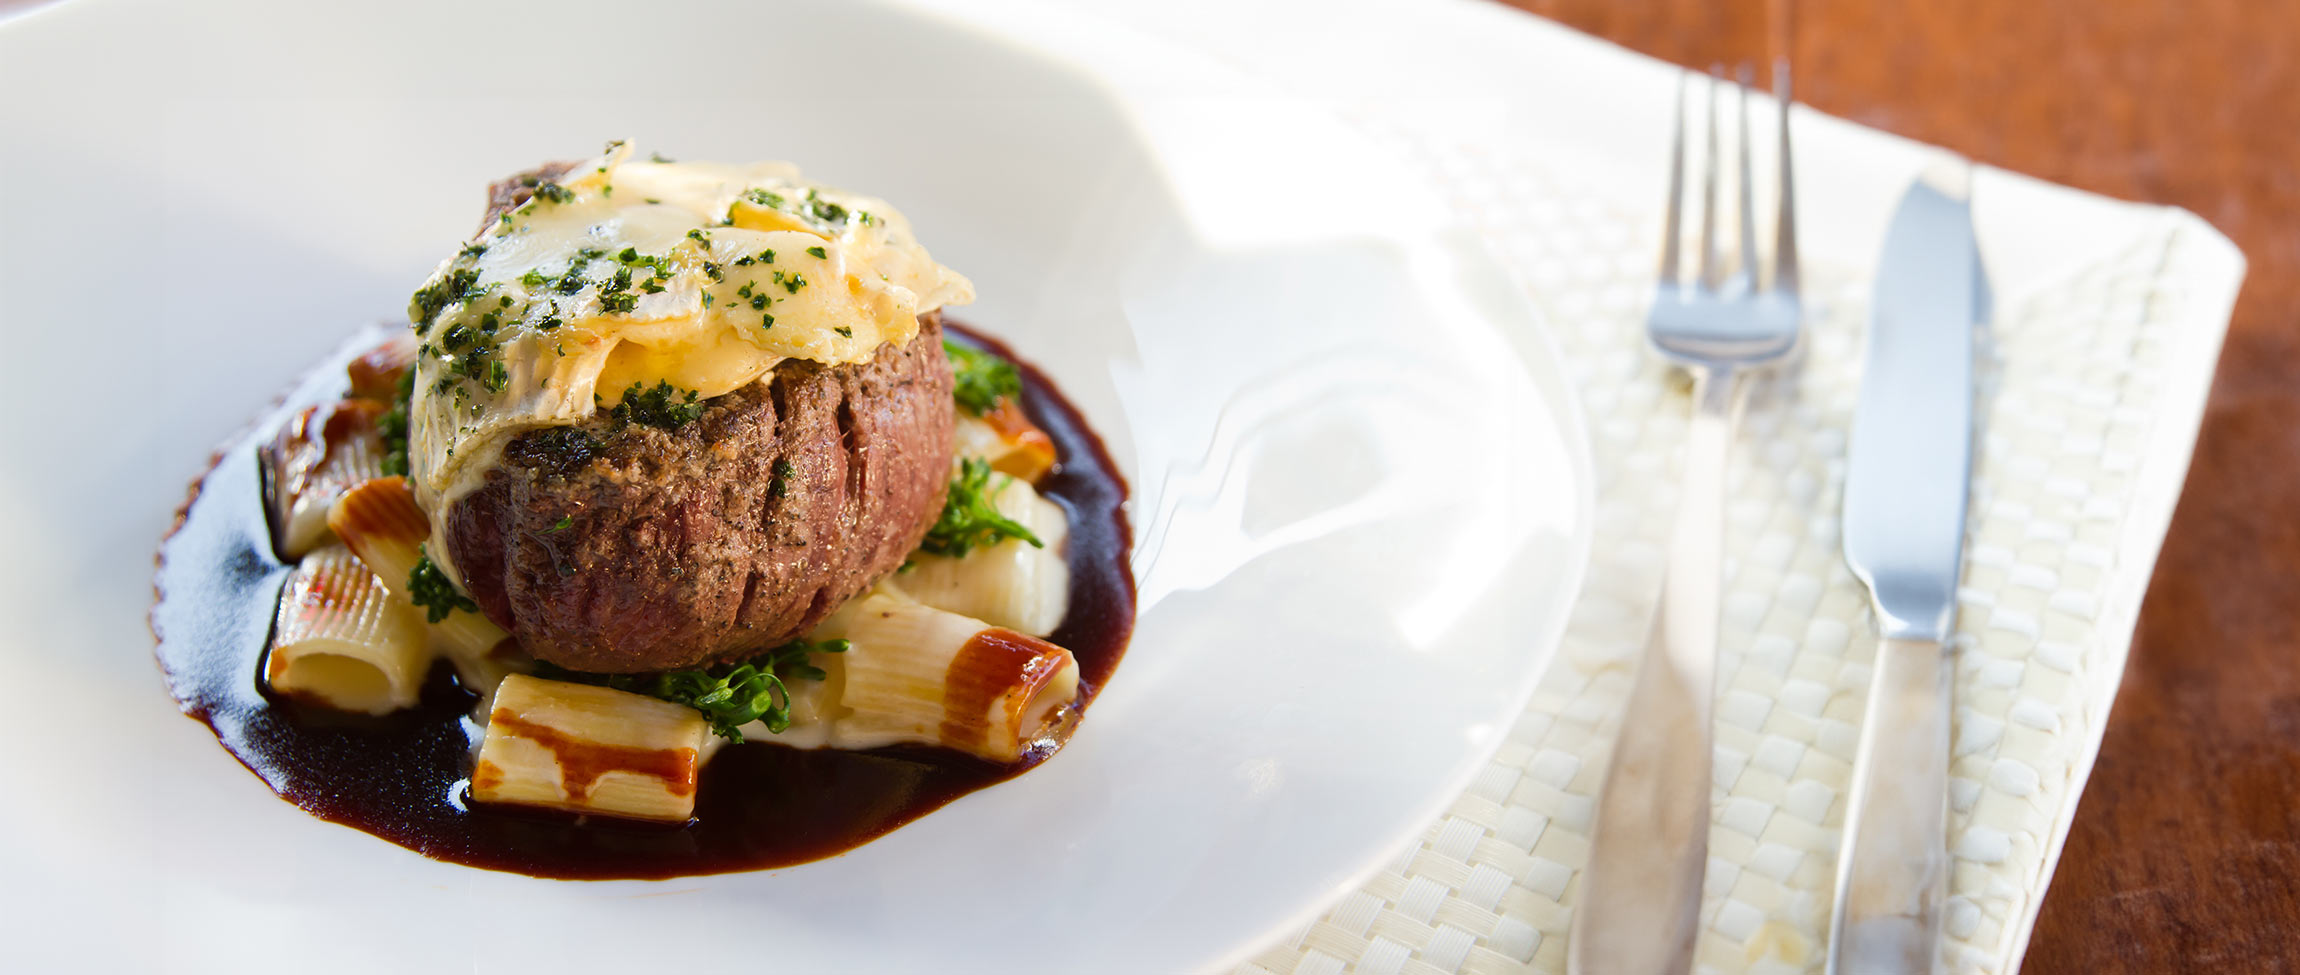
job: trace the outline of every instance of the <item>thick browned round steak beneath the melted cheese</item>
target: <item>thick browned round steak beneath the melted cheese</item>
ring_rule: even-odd
[[[550,168],[538,170],[550,179]],[[497,207],[531,186],[499,184]],[[938,313],[867,363],[780,363],[660,430],[527,432],[446,513],[465,591],[538,660],[635,674],[793,639],[904,563],[950,483]]]

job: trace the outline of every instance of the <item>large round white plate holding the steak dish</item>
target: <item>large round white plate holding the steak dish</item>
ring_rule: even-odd
[[[1500,743],[1592,481],[1546,338],[1424,186],[1316,103],[1051,9],[639,9],[0,30],[0,968],[1198,968]],[[605,138],[895,200],[975,278],[964,320],[1102,428],[1143,614],[1058,759],[835,860],[561,883],[310,819],[175,715],[143,619],[182,483],[393,317],[485,179]]]

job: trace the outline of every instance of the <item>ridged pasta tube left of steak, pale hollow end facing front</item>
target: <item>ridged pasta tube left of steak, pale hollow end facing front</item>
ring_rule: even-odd
[[[350,550],[329,545],[288,577],[264,683],[338,711],[384,715],[416,704],[430,660],[416,609]]]

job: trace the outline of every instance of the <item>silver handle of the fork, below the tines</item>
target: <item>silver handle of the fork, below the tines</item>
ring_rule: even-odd
[[[1730,370],[1693,375],[1661,607],[1598,791],[1566,941],[1566,970],[1575,975],[1665,975],[1693,964],[1709,865],[1709,713],[1736,402]]]

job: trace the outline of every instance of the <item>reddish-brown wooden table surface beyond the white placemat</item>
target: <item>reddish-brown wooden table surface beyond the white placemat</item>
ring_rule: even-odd
[[[2187,207],[2252,262],[2024,970],[2300,973],[2300,2],[1509,0],[1815,108]]]

